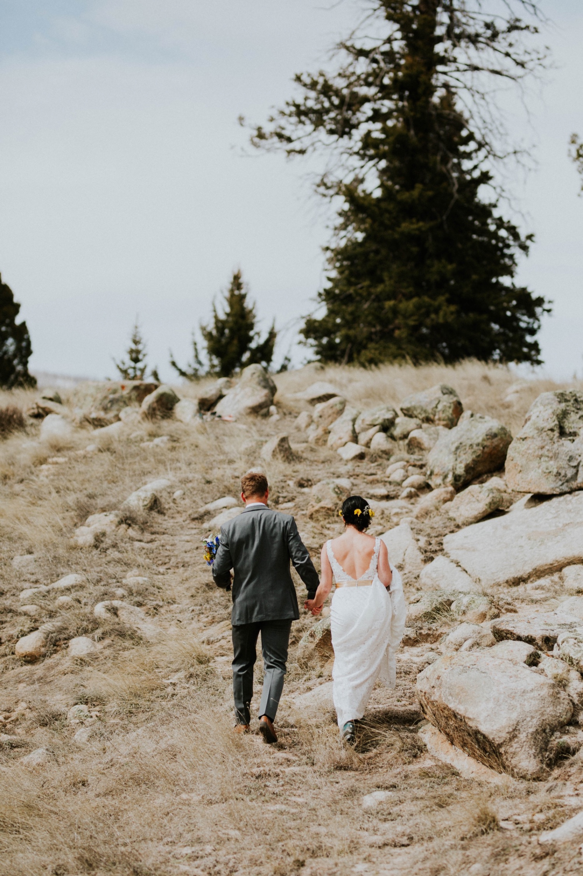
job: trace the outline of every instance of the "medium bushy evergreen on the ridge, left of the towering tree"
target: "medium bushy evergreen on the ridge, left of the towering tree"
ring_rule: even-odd
[[[277,332],[271,325],[267,336],[259,341],[256,331],[255,306],[247,304],[249,290],[242,281],[241,271],[235,271],[224,294],[223,313],[213,305],[211,325],[200,326],[207,345],[209,370],[221,377],[230,377],[251,364],[269,368],[273,358]]]

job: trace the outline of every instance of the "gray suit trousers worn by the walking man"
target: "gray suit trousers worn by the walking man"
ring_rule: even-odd
[[[233,626],[233,696],[237,724],[249,724],[253,697],[253,667],[257,637],[261,632],[263,652],[263,693],[259,717],[275,720],[279,698],[284,689],[285,662],[290,644],[292,620],[259,620],[254,624]]]

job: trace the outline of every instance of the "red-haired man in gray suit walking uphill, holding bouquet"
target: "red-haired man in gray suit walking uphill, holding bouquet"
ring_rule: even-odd
[[[249,707],[253,696],[256,642],[261,632],[263,695],[259,705],[259,730],[263,741],[277,742],[273,729],[279,697],[284,687],[285,662],[292,630],[298,620],[298,597],[290,573],[290,560],[313,599],[318,572],[299,538],[296,521],[267,507],[267,478],[249,472],[241,479],[245,510],[221,526],[221,545],[213,565],[214,583],[230,589],[233,583],[233,693],[235,732],[249,732]]]

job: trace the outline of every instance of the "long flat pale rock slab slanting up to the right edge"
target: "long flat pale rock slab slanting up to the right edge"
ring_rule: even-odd
[[[444,552],[482,587],[535,580],[583,563],[583,492],[446,535]]]

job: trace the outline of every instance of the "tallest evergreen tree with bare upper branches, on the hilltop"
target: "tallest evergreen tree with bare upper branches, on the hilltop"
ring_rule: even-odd
[[[549,308],[514,282],[531,237],[500,215],[488,166],[488,75],[519,81],[544,60],[513,4],[537,13],[528,0],[507,0],[505,19],[481,0],[372,0],[341,67],[296,76],[300,99],[256,129],[254,145],[288,157],[326,152],[317,190],[341,200],[326,311],[302,330],[321,359],[540,362]]]

